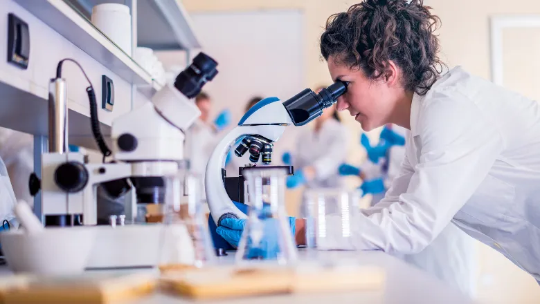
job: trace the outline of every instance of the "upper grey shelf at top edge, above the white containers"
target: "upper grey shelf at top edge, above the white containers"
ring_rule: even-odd
[[[101,3],[136,3],[137,45],[154,50],[201,48],[192,21],[180,0],[66,0],[90,19]]]

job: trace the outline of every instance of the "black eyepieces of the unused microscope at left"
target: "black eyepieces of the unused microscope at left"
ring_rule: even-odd
[[[183,70],[174,81],[174,87],[188,98],[201,93],[201,88],[217,75],[217,62],[210,56],[199,53],[190,66]]]

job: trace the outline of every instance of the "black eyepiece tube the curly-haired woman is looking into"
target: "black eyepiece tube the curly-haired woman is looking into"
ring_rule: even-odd
[[[318,94],[306,88],[291,99],[283,102],[283,106],[287,109],[294,125],[303,126],[321,116],[324,108],[332,106],[337,102],[338,97],[346,92],[347,83],[341,81],[323,88]]]

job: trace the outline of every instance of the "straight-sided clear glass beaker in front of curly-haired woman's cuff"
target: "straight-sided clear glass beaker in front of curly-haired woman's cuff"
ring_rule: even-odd
[[[354,250],[352,223],[359,212],[359,191],[311,189],[307,198],[306,245],[318,250]]]

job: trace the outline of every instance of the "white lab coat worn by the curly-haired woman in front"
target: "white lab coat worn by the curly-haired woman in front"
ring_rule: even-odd
[[[453,222],[540,280],[539,151],[537,102],[453,68],[414,95],[402,169],[354,247],[419,252]]]

